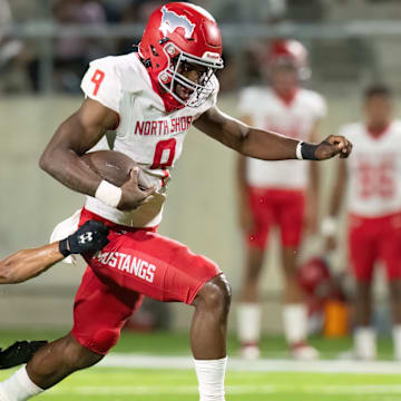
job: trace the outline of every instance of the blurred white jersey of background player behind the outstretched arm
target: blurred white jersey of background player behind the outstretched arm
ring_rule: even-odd
[[[238,108],[243,116],[252,118],[256,128],[306,141],[315,123],[326,114],[322,96],[303,88],[286,104],[271,88],[250,87],[241,92]],[[307,162],[265,162],[248,157],[246,179],[256,187],[304,189],[307,168]]]

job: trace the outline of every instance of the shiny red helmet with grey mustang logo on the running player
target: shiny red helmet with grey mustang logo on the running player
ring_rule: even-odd
[[[223,68],[222,36],[214,18],[202,7],[170,2],[154,11],[139,43],[139,56],[165,102],[172,108],[198,107],[214,90],[212,78]],[[205,68],[198,82],[178,74],[182,63]],[[175,86],[192,95],[183,100]]]

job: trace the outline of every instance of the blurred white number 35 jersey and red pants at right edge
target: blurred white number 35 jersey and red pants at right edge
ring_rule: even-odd
[[[348,165],[349,248],[356,278],[372,278],[374,263],[401,277],[401,120],[379,136],[359,124],[341,128],[353,143]]]

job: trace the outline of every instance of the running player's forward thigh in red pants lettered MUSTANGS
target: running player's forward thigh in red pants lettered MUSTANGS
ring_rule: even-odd
[[[88,261],[96,274],[120,288],[159,301],[190,304],[218,266],[187,246],[154,232],[114,232],[110,243]]]

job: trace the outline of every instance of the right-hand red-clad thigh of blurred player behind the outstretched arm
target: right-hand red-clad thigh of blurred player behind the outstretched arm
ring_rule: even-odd
[[[301,190],[283,193],[277,206],[277,224],[283,247],[299,248],[305,221],[305,195]]]

